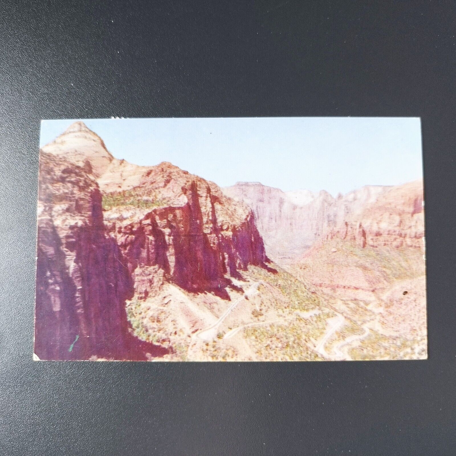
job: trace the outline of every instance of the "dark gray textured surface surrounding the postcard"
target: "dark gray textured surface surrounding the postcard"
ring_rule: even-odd
[[[0,453],[454,454],[455,7],[0,0]],[[428,361],[31,361],[41,118],[347,115],[422,118]]]

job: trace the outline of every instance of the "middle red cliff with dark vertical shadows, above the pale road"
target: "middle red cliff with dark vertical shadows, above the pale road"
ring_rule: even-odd
[[[157,207],[111,208],[105,218],[137,277],[141,268],[157,265],[185,290],[228,297],[229,275],[268,261],[252,211],[211,182],[162,163],[145,168],[135,195],[153,195]]]

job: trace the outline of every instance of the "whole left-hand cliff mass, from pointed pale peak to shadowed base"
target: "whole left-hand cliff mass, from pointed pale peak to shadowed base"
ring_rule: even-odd
[[[229,299],[230,277],[268,261],[245,204],[170,163],[115,159],[82,122],[41,151],[37,249],[42,359],[163,354],[132,335],[126,300],[164,283]]]

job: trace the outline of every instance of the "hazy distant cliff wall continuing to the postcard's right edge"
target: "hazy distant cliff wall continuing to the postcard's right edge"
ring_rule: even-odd
[[[260,183],[223,189],[254,211],[267,253],[293,263],[316,242],[341,238],[358,246],[422,247],[422,180],[402,186],[365,186],[337,198],[321,191],[282,192]]]

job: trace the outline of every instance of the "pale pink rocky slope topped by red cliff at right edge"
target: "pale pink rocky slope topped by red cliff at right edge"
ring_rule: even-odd
[[[426,358],[422,181],[361,190],[338,198],[325,235],[287,270],[363,328],[352,348],[341,334],[346,356]]]

